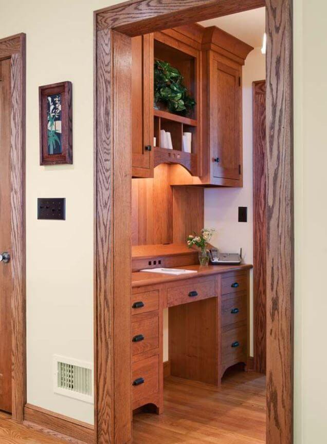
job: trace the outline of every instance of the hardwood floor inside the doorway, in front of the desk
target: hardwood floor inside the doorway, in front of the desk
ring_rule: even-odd
[[[165,379],[165,413],[134,415],[133,444],[264,444],[265,377],[233,372],[221,388]]]

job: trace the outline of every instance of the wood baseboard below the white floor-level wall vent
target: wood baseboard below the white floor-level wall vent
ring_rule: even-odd
[[[94,444],[94,427],[86,422],[26,404],[24,424],[72,444]]]

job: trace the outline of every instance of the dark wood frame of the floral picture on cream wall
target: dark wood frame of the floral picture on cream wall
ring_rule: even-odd
[[[48,153],[47,140],[47,98],[52,94],[61,94],[62,152]],[[39,87],[40,112],[40,165],[72,164],[72,85],[60,82]]]

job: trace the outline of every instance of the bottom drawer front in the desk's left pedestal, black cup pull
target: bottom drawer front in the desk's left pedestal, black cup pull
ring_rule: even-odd
[[[133,403],[159,391],[159,356],[135,362],[132,367]]]

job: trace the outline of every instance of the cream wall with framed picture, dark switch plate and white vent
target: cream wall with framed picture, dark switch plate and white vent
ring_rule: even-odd
[[[89,423],[93,405],[53,393],[52,356],[93,362],[93,11],[113,0],[0,0],[0,38],[27,34],[27,401]],[[73,85],[74,165],[39,165],[38,87]],[[65,197],[66,221],[38,221]]]

